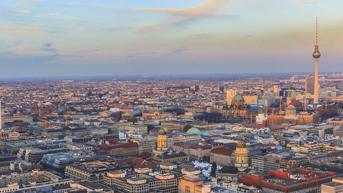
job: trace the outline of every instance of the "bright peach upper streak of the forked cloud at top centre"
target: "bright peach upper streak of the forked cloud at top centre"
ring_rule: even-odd
[[[211,16],[217,12],[217,10],[228,0],[211,0],[200,5],[196,5],[193,8],[179,8],[179,9],[168,9],[168,8],[140,8],[137,11],[145,12],[161,12],[167,14],[173,14],[176,16]]]

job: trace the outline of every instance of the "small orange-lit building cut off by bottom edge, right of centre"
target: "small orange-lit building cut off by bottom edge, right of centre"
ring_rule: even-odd
[[[204,193],[211,192],[211,184],[203,184],[200,177],[186,175],[178,184],[179,193]]]

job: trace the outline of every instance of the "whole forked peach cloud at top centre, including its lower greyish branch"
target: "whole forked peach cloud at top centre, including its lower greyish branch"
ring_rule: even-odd
[[[216,12],[224,5],[228,3],[229,0],[211,0],[200,5],[196,5],[193,8],[178,8],[178,9],[169,9],[169,8],[139,8],[137,11],[143,12],[161,12],[165,14],[171,14],[176,16],[176,19],[171,19],[169,21],[154,23],[152,25],[145,25],[135,30],[134,33],[137,34],[146,34],[154,32],[161,27],[180,27],[186,25],[193,21],[198,21],[199,19],[209,18],[215,16]]]

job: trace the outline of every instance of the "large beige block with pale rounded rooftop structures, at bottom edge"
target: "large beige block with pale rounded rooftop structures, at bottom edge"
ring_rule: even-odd
[[[182,174],[173,170],[152,170],[135,168],[134,172],[107,172],[104,184],[118,193],[178,192]]]

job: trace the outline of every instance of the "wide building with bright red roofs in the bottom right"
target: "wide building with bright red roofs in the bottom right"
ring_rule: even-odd
[[[292,170],[268,170],[265,173],[246,174],[239,181],[253,185],[265,192],[313,192],[320,193],[320,185],[342,176],[336,172],[314,172],[300,168]]]

